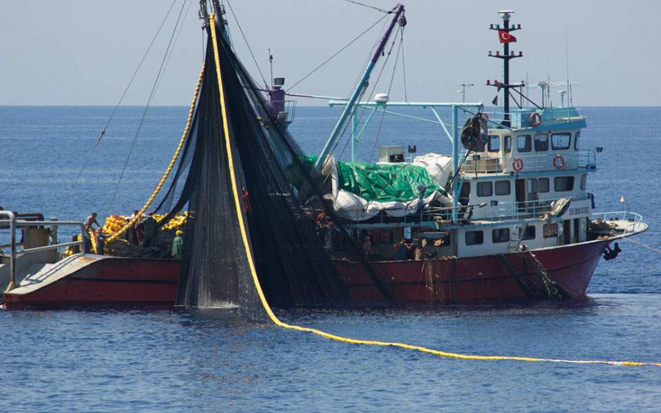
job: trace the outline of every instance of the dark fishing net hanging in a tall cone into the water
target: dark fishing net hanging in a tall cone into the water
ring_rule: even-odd
[[[324,248],[319,214],[337,222],[335,242],[352,245],[356,258],[359,247],[339,226],[301,162],[302,151],[275,122],[262,92],[220,31],[218,42],[235,187],[266,299],[276,307],[346,304],[348,290]],[[178,304],[233,304],[255,317],[261,306],[235,207],[211,41],[205,67],[182,158],[158,207],[168,211],[159,225],[188,211]]]

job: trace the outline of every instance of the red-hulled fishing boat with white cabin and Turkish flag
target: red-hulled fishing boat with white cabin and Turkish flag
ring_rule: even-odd
[[[206,2],[202,3],[206,16]],[[213,4],[219,24],[227,30],[222,6]],[[315,180],[310,184],[319,188],[300,215],[314,222],[328,265],[346,289],[348,301],[342,305],[585,299],[602,257],[615,258],[620,252],[618,240],[647,230],[637,213],[594,211],[587,178],[597,171],[600,148],[581,145],[585,116],[571,105],[571,87],[567,105],[563,100],[563,105],[554,107],[548,98],[538,105],[526,96],[525,83],[510,83],[510,60],[522,56],[510,51],[510,43],[516,41],[512,32],[521,25],[511,23],[514,12],[499,13],[502,23],[490,29],[498,34],[503,50],[489,56],[503,60],[503,81],[486,84],[496,87],[497,94],[502,92],[501,110],[489,114],[483,103],[395,102],[388,94],[361,100],[390,39],[406,26],[399,4],[389,10],[390,24],[350,98],[330,100],[330,106],[342,107],[342,114],[322,151],[300,160]],[[260,118],[266,129],[285,130],[291,123],[283,84],[284,79],[277,78],[262,91],[269,103],[269,123]],[[516,108],[510,107],[511,100]],[[431,112],[432,120],[425,121],[439,125],[452,153],[413,156],[416,148],[408,147],[406,160],[403,146],[387,146],[379,148],[378,162],[356,162],[355,145],[374,114],[410,119],[415,116],[396,111],[412,107]],[[450,120],[443,120],[445,112]],[[366,119],[361,117],[365,113]],[[348,123],[352,154],[344,162],[333,156],[333,148]],[[293,198],[306,192],[306,185],[294,187],[276,195]],[[252,189],[244,187],[241,196],[240,207],[251,222]],[[320,204],[330,205],[330,210],[324,211]],[[9,211],[2,214],[8,216],[3,222],[11,226],[12,234],[17,227],[50,225],[53,233],[58,226],[80,225],[21,220]],[[254,228],[258,220],[252,221]],[[352,249],[352,243],[359,249]],[[81,242],[59,243],[56,237],[44,237],[41,244],[17,251],[12,235],[10,254],[0,262],[5,306],[176,301],[177,284],[181,290],[180,277],[185,276],[177,260],[83,251],[62,261],[48,257],[48,263],[35,266],[39,260],[33,253],[74,245]],[[258,256],[256,261],[258,266],[271,265],[268,257]]]

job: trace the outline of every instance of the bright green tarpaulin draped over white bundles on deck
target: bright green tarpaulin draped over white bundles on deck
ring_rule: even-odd
[[[312,167],[316,156],[304,156],[305,165]],[[377,165],[365,162],[336,162],[337,187],[368,201],[408,202],[419,197],[423,185],[425,198],[434,191],[445,191],[423,167],[410,164]]]

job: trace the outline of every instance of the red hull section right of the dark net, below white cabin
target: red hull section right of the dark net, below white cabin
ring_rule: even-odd
[[[609,242],[549,248],[534,254],[571,298],[582,299]],[[459,258],[456,263],[452,260],[378,262],[373,264],[374,272],[380,275],[377,280],[370,277],[364,264],[337,262],[336,268],[345,279],[353,301],[363,304],[386,303],[386,295],[397,304],[425,305],[527,298],[512,269],[525,273],[539,286],[534,259],[518,253],[508,254],[505,259],[511,268],[497,255]]]

